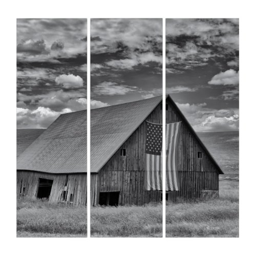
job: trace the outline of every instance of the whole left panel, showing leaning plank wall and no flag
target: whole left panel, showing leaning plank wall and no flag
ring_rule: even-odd
[[[17,237],[87,237],[87,19],[17,19]]]

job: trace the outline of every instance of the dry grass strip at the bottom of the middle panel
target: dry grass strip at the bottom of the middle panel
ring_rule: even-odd
[[[92,237],[162,237],[162,205],[92,207]]]

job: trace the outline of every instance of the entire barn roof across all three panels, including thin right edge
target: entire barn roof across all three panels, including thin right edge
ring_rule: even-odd
[[[91,173],[99,172],[161,101],[162,96],[158,96],[91,110]],[[175,103],[174,106],[218,166]],[[222,173],[220,167],[217,168]],[[18,157],[17,169],[87,172],[87,111],[60,115]]]

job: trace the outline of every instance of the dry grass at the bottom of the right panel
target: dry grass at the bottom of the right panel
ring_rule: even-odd
[[[239,182],[220,180],[220,199],[166,205],[166,237],[239,237]]]

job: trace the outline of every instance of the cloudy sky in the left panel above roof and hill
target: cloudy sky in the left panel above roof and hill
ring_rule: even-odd
[[[17,128],[86,109],[86,19],[17,19],[16,44]]]

